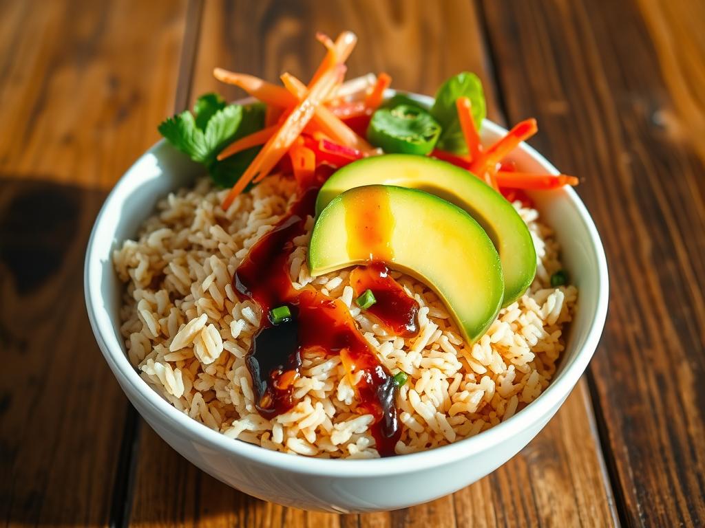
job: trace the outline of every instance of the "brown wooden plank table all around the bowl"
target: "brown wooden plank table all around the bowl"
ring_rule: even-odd
[[[519,455],[429,504],[329,515],[216,482],[128,405],[85,315],[99,206],[215,65],[306,77],[316,30],[350,75],[433,93],[482,77],[489,115],[578,189],[611,306],[565,406]],[[703,526],[705,3],[701,0],[0,2],[0,522],[29,526]]]

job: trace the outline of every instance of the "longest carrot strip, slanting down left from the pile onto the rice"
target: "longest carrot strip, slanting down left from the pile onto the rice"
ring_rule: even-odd
[[[233,200],[240,194],[247,184],[252,180],[262,180],[269,171],[274,168],[274,165],[281,160],[282,156],[289,149],[291,144],[299,137],[302,130],[308,122],[313,118],[316,108],[321,106],[321,103],[335,89],[341,77],[345,73],[345,66],[336,66],[332,70],[324,73],[321,78],[310,89],[309,93],[303,98],[300,103],[288,115],[283,125],[277,130],[276,134],[269,138],[269,141],[264,144],[262,150],[257,153],[255,159],[250,163],[245,172],[235,186],[231,189],[226,199],[223,201],[223,209],[227,209],[233,203]]]

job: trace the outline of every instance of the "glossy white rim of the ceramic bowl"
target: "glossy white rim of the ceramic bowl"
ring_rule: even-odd
[[[396,92],[388,90],[385,95],[389,96],[395,93],[406,93],[417,99],[419,102],[431,104],[433,98],[420,94],[411,94],[409,92]],[[248,98],[249,99],[249,98]],[[241,102],[246,102],[243,100]],[[484,120],[483,128],[491,134],[504,134],[507,132],[505,128],[497,125],[490,120]],[[487,429],[470,438],[462,439],[448,444],[419,451],[417,453],[408,453],[405,455],[396,455],[387,458],[375,459],[326,459],[315,458],[304,455],[292,455],[290,453],[281,453],[272,451],[255,444],[248,444],[245,441],[237,441],[225,436],[221,432],[210,429],[197,420],[192,419],[181,411],[168,403],[162,398],[157,391],[154,391],[147,382],[145,382],[131,365],[128,357],[123,352],[118,339],[108,339],[105,336],[114,337],[114,327],[111,324],[107,313],[100,314],[96,310],[97,306],[102,306],[100,303],[102,297],[99,288],[92,288],[92,284],[100,284],[100,276],[102,274],[102,263],[98,256],[94,255],[96,251],[96,240],[101,232],[102,223],[106,212],[114,207],[113,201],[116,196],[121,193],[121,189],[128,183],[126,177],[130,174],[132,168],[139,163],[145,156],[152,154],[160,149],[165,140],[154,144],[150,149],[142,153],[140,158],[120,177],[116,182],[115,187],[106,197],[102,208],[100,209],[94,225],[91,230],[90,239],[87,244],[85,266],[84,266],[84,293],[85,303],[96,341],[101,349],[106,362],[111,367],[114,375],[118,377],[121,387],[125,393],[132,394],[138,398],[140,403],[149,406],[156,413],[157,420],[168,422],[168,425],[180,429],[180,433],[188,439],[199,444],[212,448],[219,453],[233,457],[243,457],[252,462],[273,467],[277,469],[288,470],[300,474],[312,474],[325,477],[375,477],[389,474],[405,474],[410,472],[422,471],[425,468],[453,463],[454,460],[467,458],[472,454],[482,453],[487,449],[495,446],[507,436],[522,432],[541,420],[541,417],[548,415],[552,410],[558,408],[563,400],[570,394],[578,379],[584,372],[589,360],[591,359],[599,339],[602,334],[604,322],[606,319],[608,308],[608,270],[606,263],[605,252],[601,243],[601,239],[594,225],[594,222],[587,211],[587,208],[582,203],[582,200],[577,193],[570,187],[559,189],[553,192],[563,193],[565,199],[570,201],[571,205],[577,211],[577,214],[582,220],[584,227],[587,229],[590,237],[591,249],[596,256],[598,267],[597,282],[598,296],[596,310],[592,314],[589,323],[589,330],[584,341],[584,345],[580,348],[575,359],[570,365],[563,369],[560,374],[548,385],[548,387],[527,407],[517,412],[507,420],[500,422],[498,425]],[[559,174],[558,170],[544,158],[532,146],[522,142],[518,147],[520,151],[530,156],[551,172]],[[118,202],[118,205],[121,202]],[[116,244],[114,237],[110,237]],[[114,341],[114,342],[109,342]],[[127,386],[125,386],[125,384]],[[129,396],[128,394],[128,396]]]

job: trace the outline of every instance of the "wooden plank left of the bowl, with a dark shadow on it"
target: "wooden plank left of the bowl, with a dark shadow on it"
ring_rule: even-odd
[[[0,524],[109,524],[127,403],[85,315],[85,244],[171,110],[184,13],[0,4]]]

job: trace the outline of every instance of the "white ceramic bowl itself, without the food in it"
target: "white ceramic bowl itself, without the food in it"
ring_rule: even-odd
[[[429,102],[428,98],[419,100]],[[483,141],[492,142],[504,132],[486,121]],[[513,159],[521,170],[558,173],[525,144]],[[112,251],[134,237],[152,215],[158,199],[190,185],[201,172],[165,142],[149,149],[125,172],[93,227],[85,261],[85,298],[100,349],[142,417],[178,453],[236,489],[283,505],[339,513],[393,510],[453,493],[496,470],[528,444],[565,401],[594,353],[608,300],[607,266],[599,235],[575,191],[539,192],[531,197],[556,230],[563,263],[579,297],[560,368],[536,401],[472,438],[378,460],[307,458],[229,439],[173,408],[130,365],[119,332],[123,284],[111,260]]]

